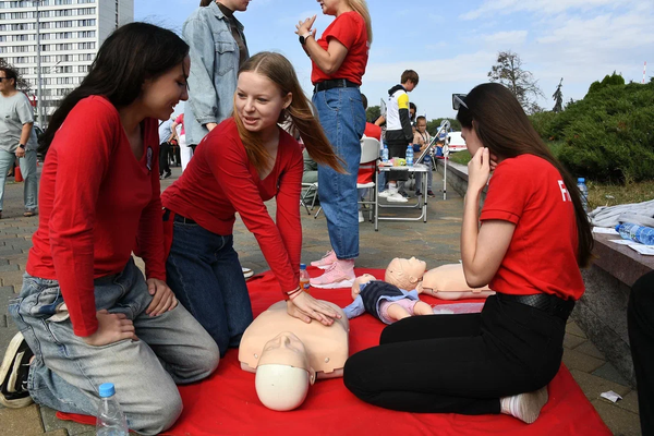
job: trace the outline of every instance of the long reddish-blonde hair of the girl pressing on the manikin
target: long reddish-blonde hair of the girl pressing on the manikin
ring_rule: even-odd
[[[346,173],[343,165],[341,165],[344,162],[334,153],[334,148],[329,144],[323,126],[314,117],[312,112],[313,105],[302,92],[291,62],[279,53],[262,51],[243,63],[243,66],[239,70],[239,74],[246,71],[268,77],[279,87],[282,96],[286,96],[288,93],[292,94],[291,104],[287,109],[281,111],[279,122],[290,121],[291,130],[300,134],[308,155],[317,164]],[[261,135],[245,129],[237,110],[233,111],[232,117],[237,122],[239,135],[245,146],[247,158],[258,172],[265,172],[270,166],[271,156],[264,146]]]

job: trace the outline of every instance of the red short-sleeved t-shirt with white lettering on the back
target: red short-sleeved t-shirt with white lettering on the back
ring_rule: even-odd
[[[516,230],[491,289],[581,298],[577,221],[567,190],[558,170],[543,158],[521,155],[497,166],[481,220],[510,221]]]

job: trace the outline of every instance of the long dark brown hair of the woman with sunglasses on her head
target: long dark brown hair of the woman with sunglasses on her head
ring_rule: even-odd
[[[593,256],[593,234],[576,180],[543,143],[513,94],[500,84],[485,83],[474,87],[464,102],[468,108],[461,105],[457,120],[467,129],[474,128],[491,153],[502,159],[526,154],[538,156],[558,170],[574,205],[579,239],[577,262],[581,267],[589,266]]]

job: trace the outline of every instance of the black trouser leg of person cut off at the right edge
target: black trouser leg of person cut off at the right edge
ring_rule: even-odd
[[[654,435],[654,271],[638,279],[627,306],[643,436]]]

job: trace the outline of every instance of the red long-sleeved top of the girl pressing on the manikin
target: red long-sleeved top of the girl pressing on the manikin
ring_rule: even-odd
[[[281,290],[288,292],[300,282],[302,223],[298,205],[303,168],[300,144],[280,129],[275,167],[259,180],[237,123],[228,118],[201,141],[186,170],[161,199],[166,208],[216,234],[232,234],[239,213]],[[277,198],[277,223],[264,204],[272,197]]]

